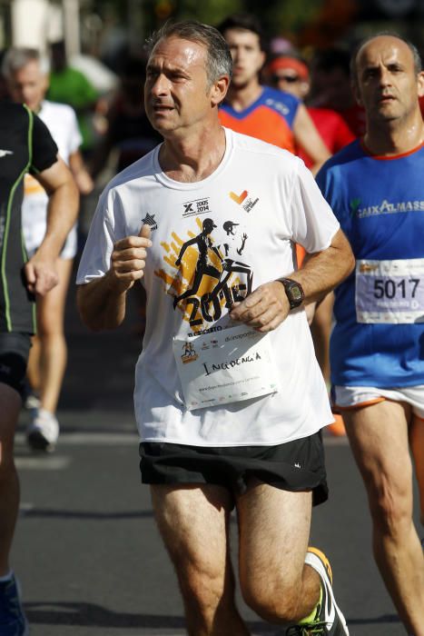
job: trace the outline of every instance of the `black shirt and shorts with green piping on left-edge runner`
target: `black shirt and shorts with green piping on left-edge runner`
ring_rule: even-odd
[[[25,375],[29,336],[35,332],[35,299],[24,275],[24,177],[56,161],[57,146],[43,122],[25,105],[0,102],[0,382],[17,390],[23,367]]]

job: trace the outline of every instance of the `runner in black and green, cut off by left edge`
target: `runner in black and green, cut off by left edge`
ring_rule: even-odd
[[[0,102],[0,144],[0,634],[26,636],[27,622],[9,565],[19,508],[15,427],[35,333],[35,296],[57,284],[55,260],[76,219],[78,191],[47,128],[27,107]],[[50,193],[44,241],[27,263],[21,232],[26,172]]]

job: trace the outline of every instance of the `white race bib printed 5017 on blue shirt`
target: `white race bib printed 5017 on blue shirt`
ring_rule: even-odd
[[[424,259],[358,261],[359,323],[424,323]]]

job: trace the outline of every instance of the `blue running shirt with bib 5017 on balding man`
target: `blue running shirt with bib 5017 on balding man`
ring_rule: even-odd
[[[380,157],[355,141],[317,182],[357,259],[335,292],[331,382],[423,384],[424,145]]]

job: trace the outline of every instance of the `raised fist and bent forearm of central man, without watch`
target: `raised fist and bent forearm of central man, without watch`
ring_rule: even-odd
[[[135,281],[143,278],[146,250],[152,245],[150,227],[144,224],[138,236],[117,241],[111,268],[101,278],[79,285],[76,293],[83,322],[93,329],[114,329],[125,317],[126,294]]]

